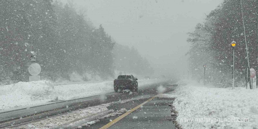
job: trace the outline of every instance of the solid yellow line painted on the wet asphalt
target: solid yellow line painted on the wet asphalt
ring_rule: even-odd
[[[144,105],[145,103],[151,101],[152,99],[154,99],[156,96],[153,96],[152,98],[148,99],[147,101],[143,102],[142,104],[136,106],[135,108],[131,109],[130,111],[124,113],[123,115],[119,116],[118,118],[116,118],[115,120],[112,120],[111,122],[109,122],[108,124],[106,124],[105,126],[99,128],[99,129],[107,129],[109,128],[111,125],[115,124],[116,122],[118,122],[119,120],[123,119],[125,116],[127,116],[128,114],[132,113],[133,111],[135,111],[136,109],[140,108],[142,105]]]

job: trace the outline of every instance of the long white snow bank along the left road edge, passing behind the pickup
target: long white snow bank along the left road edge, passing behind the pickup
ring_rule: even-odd
[[[155,79],[138,80],[138,86],[148,86],[155,82]],[[113,81],[68,85],[53,84],[50,81],[18,82],[0,86],[0,112],[111,92],[114,92]]]

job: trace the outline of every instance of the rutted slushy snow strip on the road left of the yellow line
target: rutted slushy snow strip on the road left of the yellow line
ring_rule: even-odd
[[[99,121],[99,119],[108,118],[110,116],[121,115],[127,110],[121,108],[118,111],[113,109],[109,110],[107,107],[113,104],[127,103],[135,99],[129,99],[125,101],[116,101],[111,103],[105,103],[98,106],[92,106],[84,109],[79,109],[66,113],[64,115],[55,116],[33,122],[28,125],[22,125],[17,129],[49,129],[49,128],[80,128],[80,126],[91,125]]]

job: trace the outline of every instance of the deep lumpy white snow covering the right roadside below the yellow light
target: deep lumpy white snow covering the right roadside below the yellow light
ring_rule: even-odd
[[[257,89],[184,84],[173,92],[177,95],[173,104],[178,112],[176,121],[182,128],[258,129]]]

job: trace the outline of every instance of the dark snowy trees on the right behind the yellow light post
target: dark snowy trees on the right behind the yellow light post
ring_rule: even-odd
[[[194,32],[188,33],[191,49],[186,55],[189,55],[189,68],[194,79],[203,79],[203,65],[206,64],[206,82],[219,87],[231,86],[230,43],[235,41],[235,82],[237,86],[250,82],[247,54],[250,68],[257,70],[257,6],[256,0],[242,0],[242,8],[240,0],[224,0],[203,23],[196,25]]]

